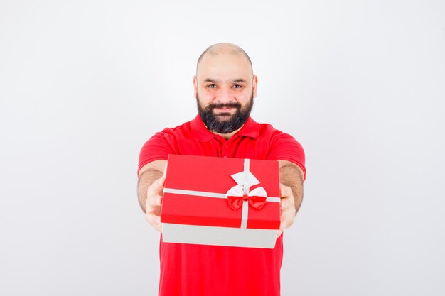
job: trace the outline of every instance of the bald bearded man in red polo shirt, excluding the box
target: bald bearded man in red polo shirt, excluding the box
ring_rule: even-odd
[[[250,117],[257,75],[242,48],[210,46],[198,59],[193,87],[198,116],[166,128],[139,155],[138,194],[146,221],[162,233],[162,192],[168,154],[279,161],[281,226],[274,249],[160,243],[161,296],[279,295],[282,231],[303,197],[304,151],[291,136]]]

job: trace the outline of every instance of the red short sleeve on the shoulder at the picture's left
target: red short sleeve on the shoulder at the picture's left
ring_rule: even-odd
[[[154,160],[167,160],[168,154],[174,154],[170,136],[165,131],[166,130],[155,133],[154,136],[149,138],[149,140],[144,143],[144,146],[142,146],[141,152],[139,153],[138,174],[139,170],[147,163],[151,163]]]

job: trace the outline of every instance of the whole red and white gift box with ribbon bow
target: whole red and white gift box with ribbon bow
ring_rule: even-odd
[[[168,155],[161,223],[166,243],[274,248],[278,162]]]

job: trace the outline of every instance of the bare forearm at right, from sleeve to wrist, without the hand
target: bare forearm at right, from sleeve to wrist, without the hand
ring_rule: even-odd
[[[295,213],[303,201],[303,172],[299,166],[285,160],[279,160],[279,182],[292,190],[295,203]]]

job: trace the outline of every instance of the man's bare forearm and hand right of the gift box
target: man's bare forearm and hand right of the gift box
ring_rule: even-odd
[[[281,200],[281,225],[278,231],[280,236],[284,229],[294,223],[303,200],[304,174],[301,168],[287,160],[279,160],[279,182]]]

